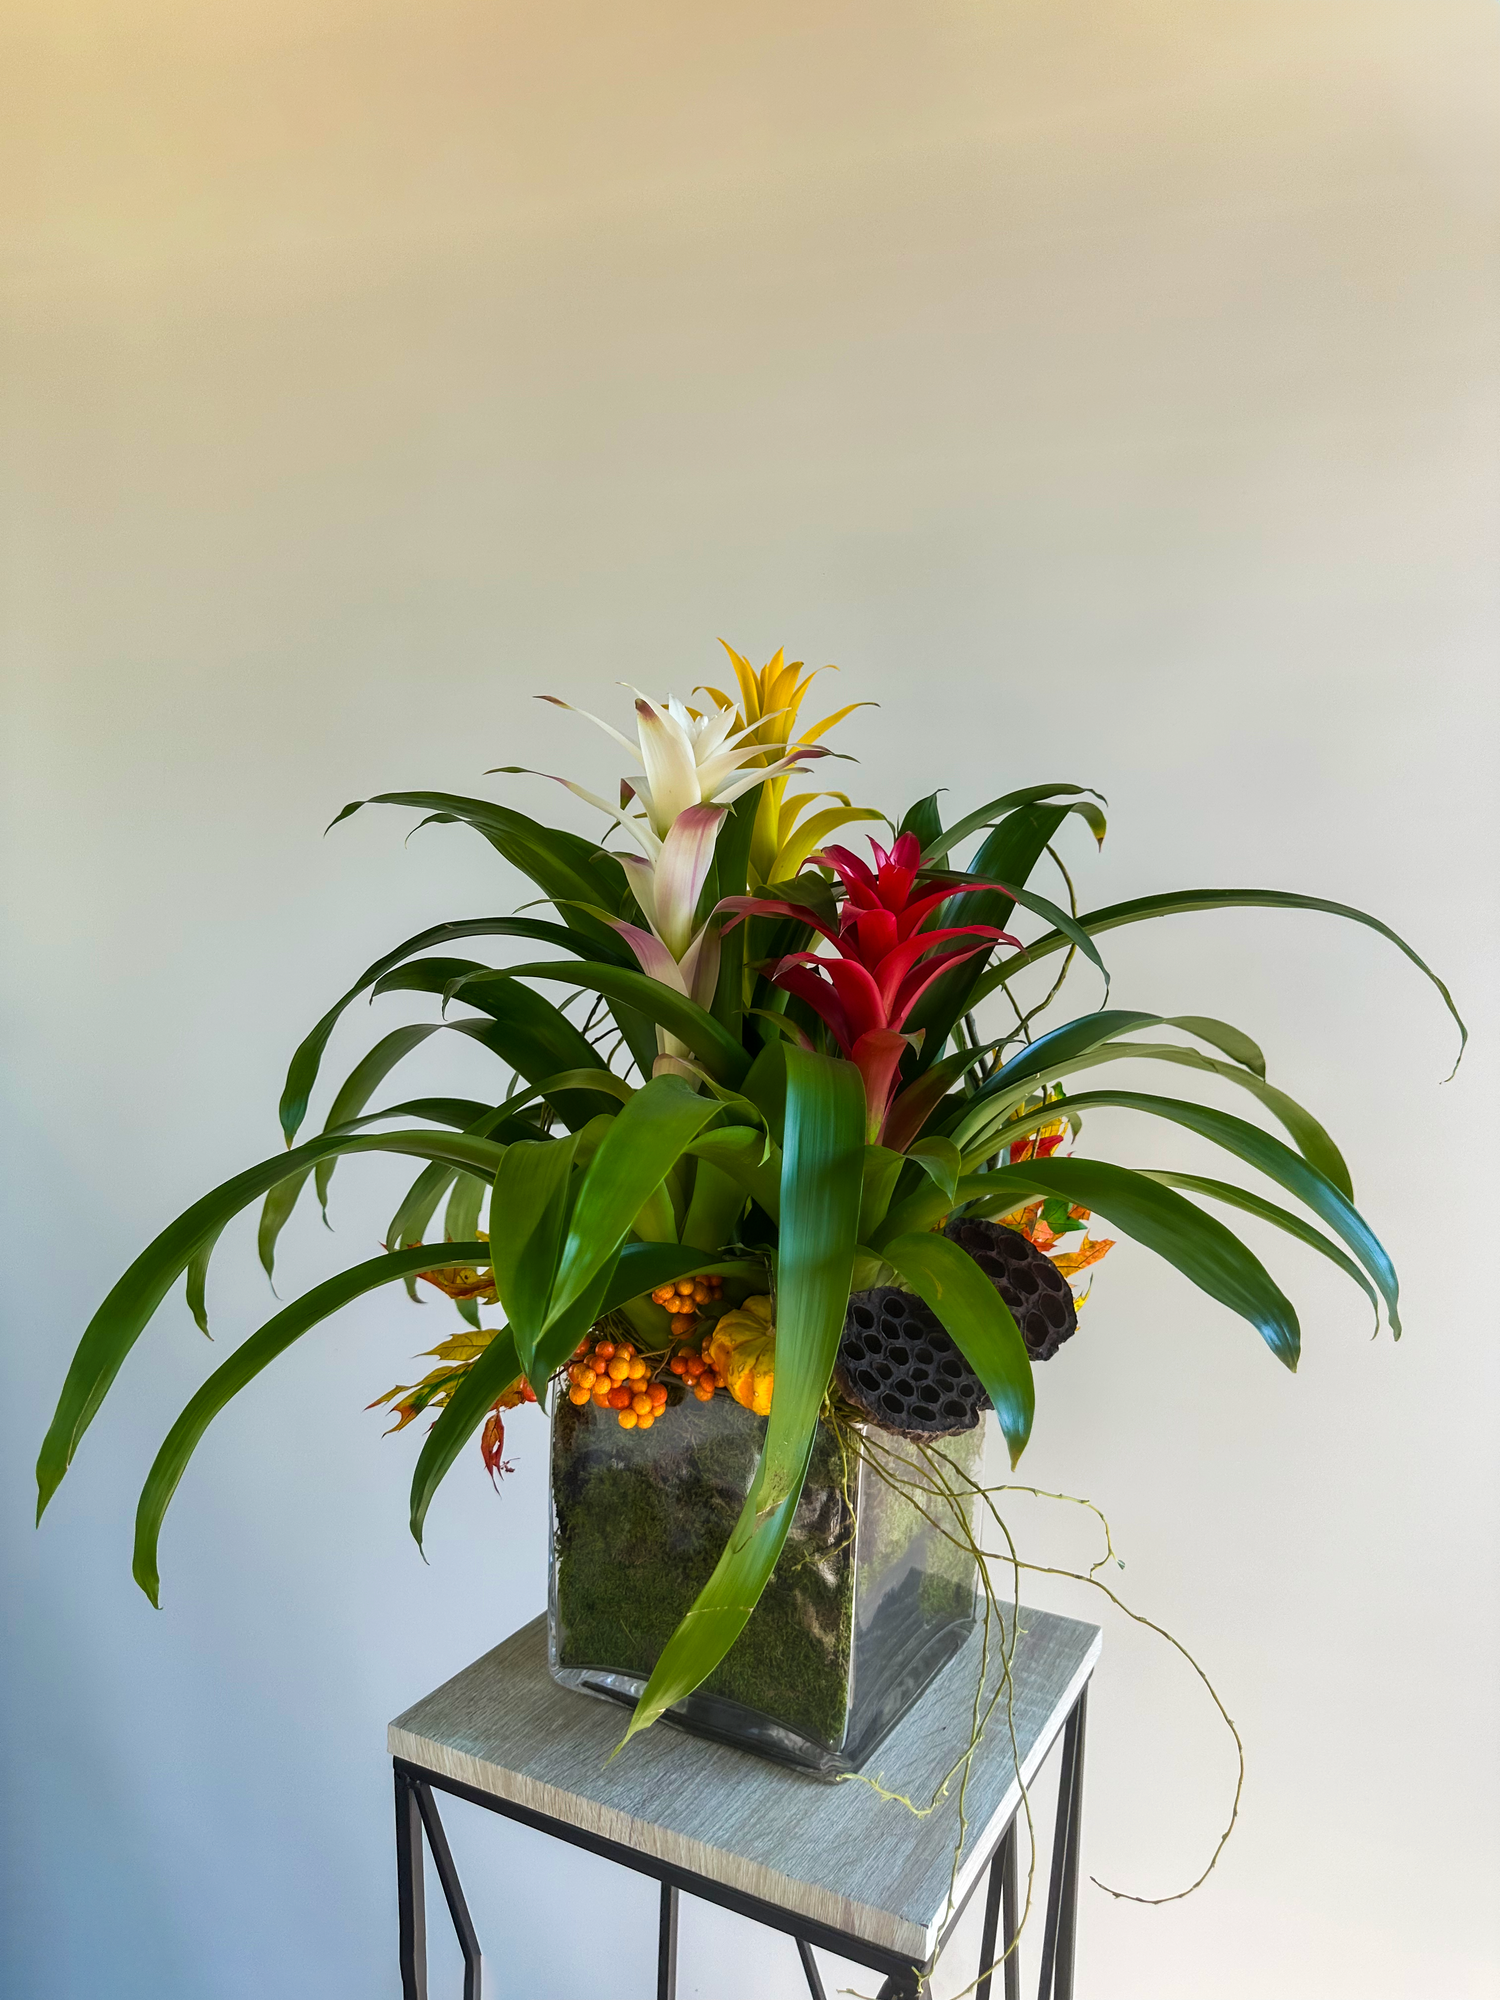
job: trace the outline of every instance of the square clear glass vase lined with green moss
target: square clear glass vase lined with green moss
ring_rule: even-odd
[[[638,1700],[724,1552],[764,1432],[764,1416],[724,1394],[684,1398],[644,1432],[622,1430],[592,1402],[558,1398],[548,1656],[562,1686]],[[976,1622],[974,1556],[954,1540],[950,1502],[924,1496],[922,1456],[890,1432],[876,1444],[886,1476],[818,1426],[758,1606],[668,1720],[838,1778],[860,1770],[964,1646]],[[926,1448],[978,1480],[984,1424]]]

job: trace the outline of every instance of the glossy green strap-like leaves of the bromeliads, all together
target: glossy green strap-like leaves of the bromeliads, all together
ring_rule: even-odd
[[[1056,1004],[1076,960],[1090,960],[1108,988],[1096,942],[1106,932],[1194,910],[1318,910],[1348,918],[1396,944],[1458,1020],[1448,988],[1378,918],[1322,898],[1182,890],[1080,910],[1058,842],[1076,840],[1080,824],[1094,840],[1104,838],[1096,800],[1076,784],[1022,786],[944,828],[942,796],[934,792],[902,820],[902,832],[922,850],[920,892],[948,890],[930,928],[1034,932],[1038,920],[1044,928],[1020,950],[986,942],[924,990],[906,1022],[898,1094],[884,1126],[872,1126],[880,1144],[866,1142],[860,1070],[834,1052],[806,1000],[772,978],[782,956],[828,950],[820,926],[838,928],[838,884],[816,852],[792,880],[776,880],[776,914],[754,912],[718,938],[718,978],[690,988],[700,1004],[688,998],[688,982],[680,980],[678,990],[642,970],[616,926],[642,932],[648,916],[630,872],[600,844],[448,792],[368,800],[416,810],[424,826],[458,824],[480,834],[542,908],[422,930],[368,966],[318,1020],[294,1052],[282,1092],[290,1150],[186,1210],[136,1258],[84,1330],[42,1444],[38,1514],[172,1284],[186,1280],[188,1308],[206,1332],[210,1258],[222,1230],[260,1204],[260,1252],[270,1270],[306,1184],[326,1208],[334,1168],[360,1154],[420,1164],[386,1228],[386,1252],[282,1306],[188,1402],[142,1492],[136,1576],[156,1600],[162,1518],[218,1410],[304,1332],[376,1286],[414,1288],[418,1274],[474,1266],[478,1282],[468,1284],[468,1294],[492,1282],[506,1322],[466,1366],[422,1442],[410,1498],[420,1540],[442,1478],[496,1398],[526,1378],[546,1402],[558,1370],[602,1314],[626,1312],[652,1324],[654,1312],[666,1326],[646,1294],[668,1280],[716,1272],[740,1288],[736,1296],[774,1292],[772,1410],[744,1514],[662,1652],[632,1732],[714,1670],[776,1566],[856,1270],[882,1272],[878,1282],[900,1282],[932,1306],[980,1374],[1012,1462],[1022,1452],[1034,1420],[1026,1346],[978,1266],[938,1234],[946,1216],[1006,1216],[1038,1198],[1096,1212],[1248,1320],[1294,1368],[1300,1330],[1292,1304],[1234,1230],[1200,1206],[1208,1202],[1312,1248],[1358,1286],[1376,1318],[1384,1306],[1398,1332],[1396,1272],[1354,1206],[1342,1152],[1310,1110],[1268,1080],[1266,1060],[1244,1030],[1198,1014],[1118,1006],[1078,1014],[1050,1034],[1034,1032],[1032,1022]],[[358,802],[340,820],[354,810]],[[694,926],[718,926],[720,900],[746,894],[756,810],[756,792],[746,792],[724,816],[702,890],[692,878]],[[792,852],[796,864],[814,838],[826,838],[824,826],[836,832],[848,818],[848,808],[810,814],[804,844],[782,852]],[[960,864],[954,856],[970,840],[978,846]],[[472,940],[542,946],[546,956],[516,964],[450,956]],[[1040,992],[1026,988],[1022,1000],[1026,976],[1054,954],[1064,954],[1060,976]],[[292,1144],[330,1042],[366,996],[382,1008],[424,1000],[440,1018],[382,1024],[374,1046],[330,1092],[320,1134]],[[980,1030],[974,1010],[990,1004],[994,1018]],[[396,1074],[418,1064],[440,1032],[462,1034],[494,1058],[494,1084],[480,1084],[472,1098],[418,1094],[380,1108],[382,1094],[394,1096]],[[1180,1096],[1102,1088],[1104,1078],[1090,1074],[1122,1062],[1150,1064],[1158,1074],[1170,1064],[1174,1080],[1212,1092],[1232,1086],[1250,1116]],[[1088,1156],[1024,1158],[1030,1136],[1044,1126],[1066,1118],[1078,1136],[1086,1118],[1106,1110],[1214,1144],[1298,1208],[1204,1174],[1132,1170]],[[1280,1136],[1254,1118],[1272,1122]],[[426,1240],[434,1228],[448,1242]],[[456,1304],[470,1326],[494,1312],[474,1296]]]

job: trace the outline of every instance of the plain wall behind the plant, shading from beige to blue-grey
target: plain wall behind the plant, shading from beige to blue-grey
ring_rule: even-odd
[[[362,1404],[438,1316],[346,1314],[216,1426],[160,1614],[134,1494],[214,1358],[178,1302],[40,1536],[30,1462],[126,1258],[274,1150],[350,970],[520,896],[462,830],[332,812],[604,784],[528,696],[684,688],[718,632],[882,704],[842,748],[892,810],[1090,782],[1088,902],[1308,888],[1452,980],[1440,1088],[1450,1024],[1364,932],[1116,936],[1120,1002],[1242,1022],[1330,1122],[1408,1334],[1268,1250],[1294,1380],[1122,1250],[1026,1464],[1108,1508],[1250,1756],[1198,1896],[1084,1892],[1080,2000],[1500,1990],[1496,58],[1490,0],[0,4],[6,1996],[396,1994],[384,1722],[542,1606],[540,1426],[502,1498],[454,1474],[424,1566]],[[394,1186],[346,1168],[288,1282]],[[240,1236],[216,1352],[268,1306]],[[1016,1526],[1090,1554],[1068,1510]],[[1180,1886],[1230,1782],[1110,1620],[1090,1868]],[[500,1992],[648,1988],[640,1886],[452,1820]],[[688,1914],[684,2000],[798,1982]]]

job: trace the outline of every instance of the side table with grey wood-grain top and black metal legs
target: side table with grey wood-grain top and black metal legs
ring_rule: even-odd
[[[482,2000],[480,1944],[434,1792],[660,1882],[656,2000],[676,2000],[680,1894],[794,1938],[812,2000],[826,2000],[814,1948],[884,1974],[882,2000],[916,2000],[986,1876],[980,1966],[992,1966],[1014,1942],[1020,1786],[1032,1786],[1058,1740],[1038,2000],[1072,2000],[1084,1716],[1098,1656],[1098,1626],[1022,1606],[1012,1674],[1020,1776],[1002,1702],[970,1768],[954,1876],[956,1782],[918,1818],[858,1780],[824,1784],[670,1726],[646,1732],[608,1762],[624,1716],[552,1680],[546,1620],[536,1618],[390,1724],[404,2000],[428,2000],[424,1840],[464,1954],[464,2000]],[[926,1804],[968,1742],[978,1668],[976,1634],[866,1774]],[[992,1660],[990,1686],[996,1678]],[[1004,2000],[1020,1996],[1018,1950],[1004,1958],[1002,1990]],[[976,1996],[990,2000],[988,1976]]]

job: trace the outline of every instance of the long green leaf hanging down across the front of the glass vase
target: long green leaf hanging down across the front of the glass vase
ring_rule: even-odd
[[[712,1674],[744,1630],[786,1544],[848,1310],[864,1116],[864,1084],[852,1064],[786,1050],[776,1384],[766,1444],[728,1546],[662,1648],[626,1742]]]

